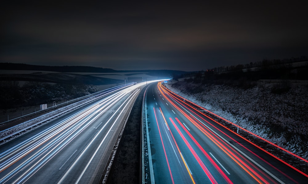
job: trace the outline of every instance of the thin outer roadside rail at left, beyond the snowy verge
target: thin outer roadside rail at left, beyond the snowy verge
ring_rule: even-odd
[[[132,82],[132,83],[128,83],[128,84],[122,84],[120,86],[115,86],[113,88],[108,88],[108,89],[105,89],[105,90],[102,90],[102,91],[99,91],[99,92],[95,92],[95,93],[92,93],[92,94],[89,94],[89,95],[86,95],[86,96],[81,96],[81,97],[78,97],[76,99],[73,99],[73,100],[69,100],[69,101],[66,101],[66,102],[63,102],[61,104],[58,104],[56,106],[60,106],[62,107],[63,105],[65,104],[69,104],[69,103],[74,103],[74,101],[79,101],[80,99],[87,99],[88,97],[93,97],[93,96],[96,96],[96,94],[101,94],[101,93],[105,93],[105,92],[109,92],[109,91],[113,91],[113,90],[116,90],[118,88],[121,88],[121,87],[124,87],[124,86],[128,86],[128,85],[132,85],[132,84],[136,84],[136,82]],[[14,120],[17,120],[17,119],[20,119],[20,118],[24,118],[24,117],[27,117],[27,116],[31,116],[33,114],[36,114],[36,113],[41,113],[41,112],[45,112],[45,111],[48,111],[48,110],[51,110],[51,109],[54,109],[55,107],[52,106],[52,107],[48,107],[46,109],[43,109],[43,110],[39,110],[39,111],[35,111],[35,112],[32,112],[32,113],[29,113],[29,114],[26,114],[26,115],[23,115],[23,116],[20,116],[20,117],[16,117],[16,118],[13,118],[13,119],[10,119],[8,121],[4,121],[1,124],[4,124],[4,123],[8,123],[10,121],[14,121]]]

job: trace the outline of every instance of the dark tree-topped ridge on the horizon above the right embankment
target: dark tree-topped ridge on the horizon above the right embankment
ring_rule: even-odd
[[[296,65],[297,62],[301,65]],[[178,78],[194,78],[203,80],[308,80],[308,57],[301,56],[291,59],[263,59],[262,61],[248,64],[215,67],[206,71],[185,73]]]

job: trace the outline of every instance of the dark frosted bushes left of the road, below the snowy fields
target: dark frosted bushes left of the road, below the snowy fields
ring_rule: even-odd
[[[0,81],[0,109],[18,108],[71,100],[97,92],[98,88],[87,84],[49,84],[45,82]]]

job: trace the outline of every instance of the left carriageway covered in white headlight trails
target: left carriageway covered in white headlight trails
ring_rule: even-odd
[[[145,82],[0,145],[0,183],[99,183]]]

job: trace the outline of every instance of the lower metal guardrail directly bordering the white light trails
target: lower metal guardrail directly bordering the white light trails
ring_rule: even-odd
[[[75,109],[75,108],[81,107],[81,106],[83,106],[84,104],[91,103],[91,102],[93,102],[93,101],[95,101],[95,100],[98,100],[99,98],[102,98],[102,97],[104,97],[104,96],[106,96],[106,95],[109,95],[110,93],[117,92],[117,91],[119,91],[119,90],[121,90],[121,89],[123,89],[123,88],[132,86],[132,85],[134,85],[134,84],[136,84],[136,82],[129,83],[129,84],[124,84],[124,85],[120,85],[120,86],[116,86],[116,87],[113,87],[113,88],[109,88],[109,89],[103,90],[104,92],[103,92],[103,91],[100,91],[101,93],[96,92],[96,93],[99,93],[99,94],[96,94],[96,95],[91,96],[91,97],[89,97],[89,98],[86,98],[86,99],[84,99],[84,100],[75,102],[75,103],[73,103],[73,104],[67,105],[67,106],[65,106],[65,107],[63,107],[63,108],[59,108],[59,109],[57,109],[57,110],[55,110],[55,111],[53,111],[53,112],[49,112],[49,113],[47,113],[47,114],[44,114],[44,115],[39,116],[39,117],[36,117],[36,118],[31,119],[31,120],[29,120],[29,121],[25,121],[25,122],[23,122],[23,123],[21,123],[21,124],[19,124],[19,125],[15,125],[15,126],[10,127],[10,128],[8,128],[8,129],[2,130],[2,131],[0,131],[0,133],[3,133],[3,132],[5,132],[5,131],[9,131],[9,130],[11,130],[11,129],[14,129],[14,128],[20,126],[20,125],[29,123],[30,121],[33,121],[33,120],[42,118],[43,116],[48,116],[48,115],[50,115],[50,114],[52,114],[52,113],[58,112],[56,115],[53,115],[53,116],[48,117],[48,118],[45,118],[44,120],[39,121],[38,123],[34,123],[33,125],[27,126],[26,128],[23,128],[23,129],[21,129],[21,130],[14,131],[13,133],[10,133],[9,135],[6,135],[5,137],[2,137],[2,138],[0,139],[0,141],[4,141],[4,140],[6,140],[6,139],[8,139],[8,138],[10,138],[10,137],[12,137],[12,136],[14,136],[14,135],[16,135],[16,134],[19,134],[19,133],[21,133],[21,132],[24,132],[24,131],[26,131],[26,130],[28,130],[28,129],[31,129],[31,128],[37,126],[37,125],[40,125],[40,124],[42,124],[42,123],[44,123],[44,122],[47,122],[47,121],[49,121],[49,120],[51,120],[51,119],[53,119],[53,118],[55,118],[55,117],[58,117],[58,116],[60,116],[61,114],[64,114],[64,113],[66,113],[66,112],[69,112],[69,111],[71,111],[71,110],[73,110],[73,109]],[[107,91],[107,90],[108,90],[108,91]],[[95,93],[93,93],[93,94],[95,94]],[[91,94],[91,95],[93,95],[93,94]],[[80,98],[81,98],[81,97],[80,97]],[[66,102],[65,102],[65,103],[66,103]],[[68,107],[71,107],[71,108],[68,108]],[[67,108],[68,108],[68,109],[67,109]]]

